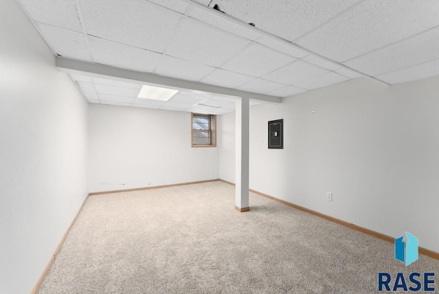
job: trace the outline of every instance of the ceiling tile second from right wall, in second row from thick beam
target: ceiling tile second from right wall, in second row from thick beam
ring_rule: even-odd
[[[283,84],[296,84],[310,78],[320,76],[327,72],[327,69],[316,67],[302,60],[297,60],[294,63],[287,65],[281,69],[273,71],[272,73],[263,76],[267,80],[274,82],[281,82]]]

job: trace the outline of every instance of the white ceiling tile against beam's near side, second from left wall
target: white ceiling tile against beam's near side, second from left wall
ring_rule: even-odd
[[[88,37],[95,63],[151,73],[161,54],[145,49]]]

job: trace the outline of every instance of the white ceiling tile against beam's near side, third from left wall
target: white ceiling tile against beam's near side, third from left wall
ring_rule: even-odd
[[[193,63],[192,61],[163,56],[160,63],[158,63],[155,74],[196,82],[210,74],[214,69],[214,67]]]

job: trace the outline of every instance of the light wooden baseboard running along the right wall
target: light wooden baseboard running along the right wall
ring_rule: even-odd
[[[223,179],[219,179],[219,181],[222,181],[223,183],[228,183],[229,185],[235,185],[234,183],[231,183],[229,181],[225,181]],[[350,229],[355,229],[355,231],[360,231],[361,233],[368,234],[370,236],[374,236],[375,238],[379,238],[381,240],[385,240],[385,241],[390,242],[390,243],[393,243],[394,240],[395,240],[394,237],[391,237],[391,236],[388,236],[388,235],[385,235],[385,234],[381,234],[381,233],[379,233],[377,231],[372,231],[371,229],[366,229],[365,227],[360,227],[358,225],[354,225],[353,223],[348,223],[348,222],[346,222],[344,220],[340,220],[338,218],[334,218],[332,216],[328,216],[327,214],[322,214],[320,212],[316,212],[315,210],[309,210],[306,207],[302,207],[300,205],[296,205],[294,203],[291,203],[291,202],[288,202],[288,201],[285,201],[285,200],[282,200],[282,199],[278,199],[278,198],[276,198],[274,196],[261,193],[261,192],[259,192],[257,190],[249,189],[249,191],[253,192],[254,194],[258,194],[260,196],[263,196],[265,198],[277,201],[277,202],[282,203],[284,205],[287,205],[289,207],[296,208],[296,210],[301,210],[302,212],[307,212],[309,214],[313,214],[314,216],[318,216],[320,218],[324,218],[326,220],[330,220],[333,223],[337,223],[339,225],[343,225],[344,227],[348,227]],[[436,252],[436,251],[425,249],[423,247],[419,247],[418,251],[419,251],[420,254],[423,254],[425,256],[429,256],[431,258],[439,260],[439,253]]]

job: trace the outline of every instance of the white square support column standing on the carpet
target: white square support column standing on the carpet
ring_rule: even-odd
[[[236,159],[235,159],[235,209],[239,212],[250,210],[248,206],[248,148],[249,148],[249,99],[236,102]]]

